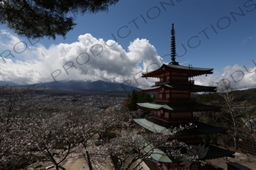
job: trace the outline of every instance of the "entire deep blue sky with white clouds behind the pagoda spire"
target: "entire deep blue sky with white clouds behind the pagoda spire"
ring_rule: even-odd
[[[163,56],[170,53],[170,29],[174,23],[176,52],[180,56],[176,60],[185,66],[191,64],[214,68],[213,76],[208,76],[207,79],[195,78],[198,79],[198,84],[211,85],[220,79],[229,79],[233,84],[235,83],[236,88],[256,88],[254,71],[256,69],[256,1],[121,0],[116,5],[112,5],[108,12],[84,14],[84,16],[76,14],[76,17],[77,26],[68,32],[65,39],[45,38],[40,39],[35,45],[31,45],[25,37],[15,35],[12,30],[2,25],[1,53],[10,49],[15,54],[14,45],[17,44],[15,41],[24,41],[27,43],[27,48],[22,54],[9,56],[6,59],[11,62],[9,66],[4,66],[2,63],[1,79],[17,83],[49,82],[54,81],[51,73],[61,70],[53,74],[56,76],[61,72],[55,80],[103,79],[110,82],[124,82],[130,79],[131,85],[148,85],[150,82],[136,80],[140,76],[137,73],[145,71],[151,63],[160,64],[161,58],[163,62],[169,62],[169,57]],[[81,38],[87,40],[83,46],[79,46],[81,39],[79,40],[78,37],[81,35],[87,35]],[[100,46],[103,43],[101,39],[106,42],[112,39],[115,42],[108,42],[107,45],[113,46],[103,45],[103,48]],[[99,43],[100,45],[97,45]],[[24,44],[18,43],[15,46],[17,52],[19,47],[23,51],[22,45]],[[76,49],[73,55],[71,51],[67,51],[70,47]],[[96,51],[99,54],[102,50],[102,53],[96,56],[99,60],[96,59],[95,62],[92,61],[96,57],[92,57],[91,47],[93,51],[95,50],[94,54]],[[43,58],[38,52],[39,49],[48,58]],[[77,49],[80,53],[77,53]],[[87,51],[90,55],[90,62],[81,67],[76,66],[77,69],[70,68],[68,70],[70,72],[78,71],[67,73],[63,65],[68,61],[74,61],[77,54],[83,51],[84,53]],[[115,54],[116,51],[119,54]],[[8,52],[5,52],[2,56],[5,57],[7,54]],[[109,57],[111,58],[112,55],[113,58],[110,60]],[[115,58],[119,55],[124,55],[121,57],[122,60]],[[46,58],[49,63],[46,62]],[[10,66],[14,66],[16,71],[8,70]],[[130,71],[128,68],[126,70],[128,66]],[[14,75],[12,79],[11,75]],[[27,76],[33,76],[33,80]]]

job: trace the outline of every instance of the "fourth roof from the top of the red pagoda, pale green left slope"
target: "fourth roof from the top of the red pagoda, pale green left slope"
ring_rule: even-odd
[[[147,119],[134,119],[138,125],[141,125],[147,130],[154,133],[168,134],[168,129],[170,128],[179,128],[190,127],[191,122],[166,122],[161,119],[156,119],[155,117],[150,117]],[[185,128],[182,131],[177,132],[173,135],[186,136],[186,135],[199,135],[199,134],[217,134],[225,133],[227,130],[223,127],[217,127],[214,125],[207,125],[203,122],[192,122],[193,125],[191,128]]]

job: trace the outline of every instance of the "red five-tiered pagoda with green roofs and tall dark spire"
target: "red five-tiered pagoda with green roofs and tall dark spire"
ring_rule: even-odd
[[[159,82],[149,88],[141,88],[142,92],[156,92],[156,99],[150,103],[138,103],[137,107],[141,109],[152,110],[153,115],[147,119],[134,119],[138,125],[154,133],[163,133],[168,128],[175,128],[180,125],[185,126],[193,123],[193,128],[188,128],[179,132],[175,139],[183,141],[188,145],[198,146],[202,144],[204,134],[226,133],[226,128],[207,125],[198,121],[194,116],[195,112],[220,112],[221,107],[210,106],[197,103],[191,93],[193,92],[216,92],[216,87],[195,85],[193,77],[212,74],[212,68],[199,68],[194,66],[181,66],[175,61],[175,30],[171,30],[171,59],[169,64],[163,64],[159,69],[150,73],[142,73],[142,77],[159,78]],[[201,160],[215,159],[224,156],[232,156],[234,152],[223,150],[219,147],[209,147],[207,154],[200,157]],[[163,150],[159,150],[164,153]],[[173,167],[179,167],[179,161],[159,154],[152,154],[151,159],[158,166],[158,169],[169,170]],[[199,169],[200,165],[191,164],[188,169]],[[152,168],[156,169],[156,168]]]

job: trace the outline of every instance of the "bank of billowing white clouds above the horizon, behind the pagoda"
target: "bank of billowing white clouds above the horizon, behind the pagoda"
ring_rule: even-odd
[[[51,45],[49,48],[39,43],[27,43],[23,53],[15,54],[14,45],[22,40],[6,30],[1,31],[1,37],[0,53],[5,57],[10,50],[14,57],[0,58],[0,79],[19,84],[74,79],[145,87],[153,85],[156,79],[140,78],[141,73],[156,70],[162,65],[156,48],[147,39],[135,39],[125,51],[113,40],[104,42],[85,34],[79,36],[77,42]],[[21,43],[19,45],[15,49],[25,49]],[[256,66],[246,69],[239,65],[226,66],[223,72],[218,72],[220,76],[198,76],[194,79],[199,85],[216,85],[221,79],[229,79],[234,88],[256,88]]]

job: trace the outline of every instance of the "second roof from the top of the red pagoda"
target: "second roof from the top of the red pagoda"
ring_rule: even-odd
[[[216,92],[216,87],[213,86],[204,86],[204,85],[194,85],[191,83],[160,83],[157,85],[153,85],[149,88],[141,88],[141,91],[157,91],[160,88],[172,88],[175,90],[189,90],[192,92],[201,92],[201,91],[210,91],[210,92]]]

